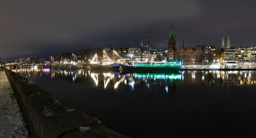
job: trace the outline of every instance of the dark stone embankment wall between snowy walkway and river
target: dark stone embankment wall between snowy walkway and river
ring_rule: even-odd
[[[60,101],[36,83],[5,69],[31,137],[126,137]]]

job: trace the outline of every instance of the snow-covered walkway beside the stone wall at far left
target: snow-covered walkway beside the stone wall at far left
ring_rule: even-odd
[[[13,90],[0,69],[0,137],[29,137]]]

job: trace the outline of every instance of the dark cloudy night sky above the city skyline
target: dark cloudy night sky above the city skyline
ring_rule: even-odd
[[[230,37],[231,47],[256,47],[256,1],[59,0],[0,1],[3,61],[51,56],[80,49],[129,47],[127,34],[167,47],[171,22],[176,48],[215,45]]]

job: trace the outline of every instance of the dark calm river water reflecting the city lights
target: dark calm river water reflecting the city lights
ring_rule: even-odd
[[[255,137],[255,71],[13,70],[130,137]]]

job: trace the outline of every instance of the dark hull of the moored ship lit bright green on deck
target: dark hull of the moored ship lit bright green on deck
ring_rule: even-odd
[[[168,62],[168,63],[136,63],[135,66],[128,64],[121,64],[120,72],[178,72],[181,67],[180,62]]]

